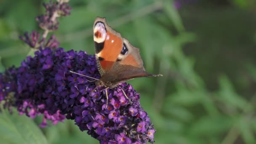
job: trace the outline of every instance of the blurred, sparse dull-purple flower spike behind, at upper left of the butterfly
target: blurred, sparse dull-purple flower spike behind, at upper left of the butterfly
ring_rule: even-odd
[[[48,40],[46,40],[46,38],[48,32],[58,29],[59,21],[57,18],[70,14],[71,7],[67,2],[68,0],[58,0],[54,2],[50,0],[49,3],[43,3],[46,13],[41,16],[37,16],[36,18],[39,27],[44,29],[43,34],[41,35],[36,31],[32,31],[29,35],[28,32],[25,32],[23,36],[20,36],[20,39],[27,43],[31,48],[58,48],[60,43],[54,35],[51,35]],[[50,67],[50,65],[44,66],[45,69],[48,67]]]

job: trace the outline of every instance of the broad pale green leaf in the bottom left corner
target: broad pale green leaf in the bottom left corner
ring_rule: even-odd
[[[40,128],[25,115],[14,112],[10,115],[6,110],[0,113],[1,143],[9,144],[48,144]],[[3,140],[3,141],[2,141]]]

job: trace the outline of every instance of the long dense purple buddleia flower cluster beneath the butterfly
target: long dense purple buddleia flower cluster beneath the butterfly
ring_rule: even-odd
[[[45,5],[47,11],[70,10],[67,3],[63,7],[56,6],[59,2]],[[57,23],[49,22],[45,16],[40,24],[48,27],[47,24]],[[37,32],[25,37],[23,40],[32,48],[39,45],[38,51],[22,61],[20,67],[0,73],[0,103],[6,109],[17,109],[19,114],[31,118],[43,115],[41,127],[47,126],[48,121],[57,124],[65,119],[74,120],[81,131],[87,131],[101,144],[154,142],[155,129],[140,105],[139,93],[130,84],[108,88],[107,104],[105,87],[69,72],[100,79],[95,56],[84,51],[64,51],[54,44],[45,45],[46,41],[41,45]]]

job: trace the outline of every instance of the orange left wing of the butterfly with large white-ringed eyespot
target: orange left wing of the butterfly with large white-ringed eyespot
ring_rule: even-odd
[[[93,39],[98,69],[103,76],[114,66],[123,48],[123,39],[120,33],[108,26],[105,18],[99,17],[93,25]]]

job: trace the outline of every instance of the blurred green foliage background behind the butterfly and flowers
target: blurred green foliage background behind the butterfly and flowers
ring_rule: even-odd
[[[48,0],[0,1],[0,70],[19,66],[40,30]],[[96,16],[140,48],[148,72],[130,81],[155,129],[156,144],[256,144],[255,0],[71,0],[71,15],[54,32],[65,50],[94,54]],[[99,142],[72,120],[39,129],[26,116],[0,114],[0,143]],[[25,127],[25,128],[24,128]]]

